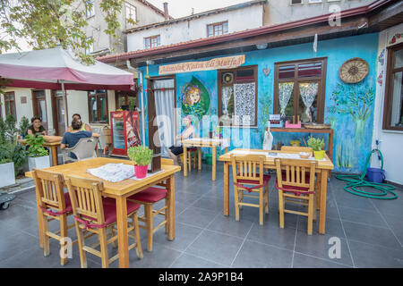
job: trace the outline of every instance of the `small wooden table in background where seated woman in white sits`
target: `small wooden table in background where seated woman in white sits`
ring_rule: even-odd
[[[210,147],[212,150],[212,181],[216,181],[216,169],[217,169],[217,155],[216,147],[219,147],[222,143],[222,139],[209,139],[209,138],[196,138],[196,139],[185,139],[182,140],[182,145],[184,147],[184,162],[187,162],[187,148],[197,147],[198,152],[198,168],[201,170],[201,147]],[[226,147],[226,153],[228,152],[228,147]],[[187,176],[187,168],[184,168],[184,177]]]

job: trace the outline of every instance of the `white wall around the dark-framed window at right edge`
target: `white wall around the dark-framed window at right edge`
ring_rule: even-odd
[[[379,34],[379,47],[378,47],[378,66],[377,75],[378,82],[376,85],[376,97],[374,107],[374,122],[373,122],[373,147],[376,147],[376,140],[380,141],[380,150],[383,156],[383,168],[386,172],[386,180],[395,183],[403,184],[403,131],[395,130],[382,130],[383,121],[383,105],[385,98],[385,80],[386,80],[386,67],[387,67],[387,46],[391,46],[390,40],[398,33],[403,32],[403,23],[385,29]],[[403,38],[398,38],[396,43],[403,42]],[[381,56],[383,53],[383,56]],[[382,60],[383,59],[383,60]],[[383,63],[383,64],[382,64]],[[382,84],[380,83],[382,75]],[[372,157],[371,166],[380,168],[380,162],[377,156]]]

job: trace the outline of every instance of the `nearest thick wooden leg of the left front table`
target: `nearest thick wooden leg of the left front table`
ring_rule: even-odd
[[[129,239],[127,236],[126,198],[116,198],[116,215],[119,267],[129,268]]]

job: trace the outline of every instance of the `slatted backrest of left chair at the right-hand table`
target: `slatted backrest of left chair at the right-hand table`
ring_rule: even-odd
[[[256,181],[256,184],[263,182],[263,164],[266,156],[264,155],[231,155],[231,164],[234,175],[234,181],[249,180]]]

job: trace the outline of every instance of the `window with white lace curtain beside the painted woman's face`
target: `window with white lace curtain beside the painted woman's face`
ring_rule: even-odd
[[[224,126],[257,126],[257,65],[219,70],[219,119]]]

